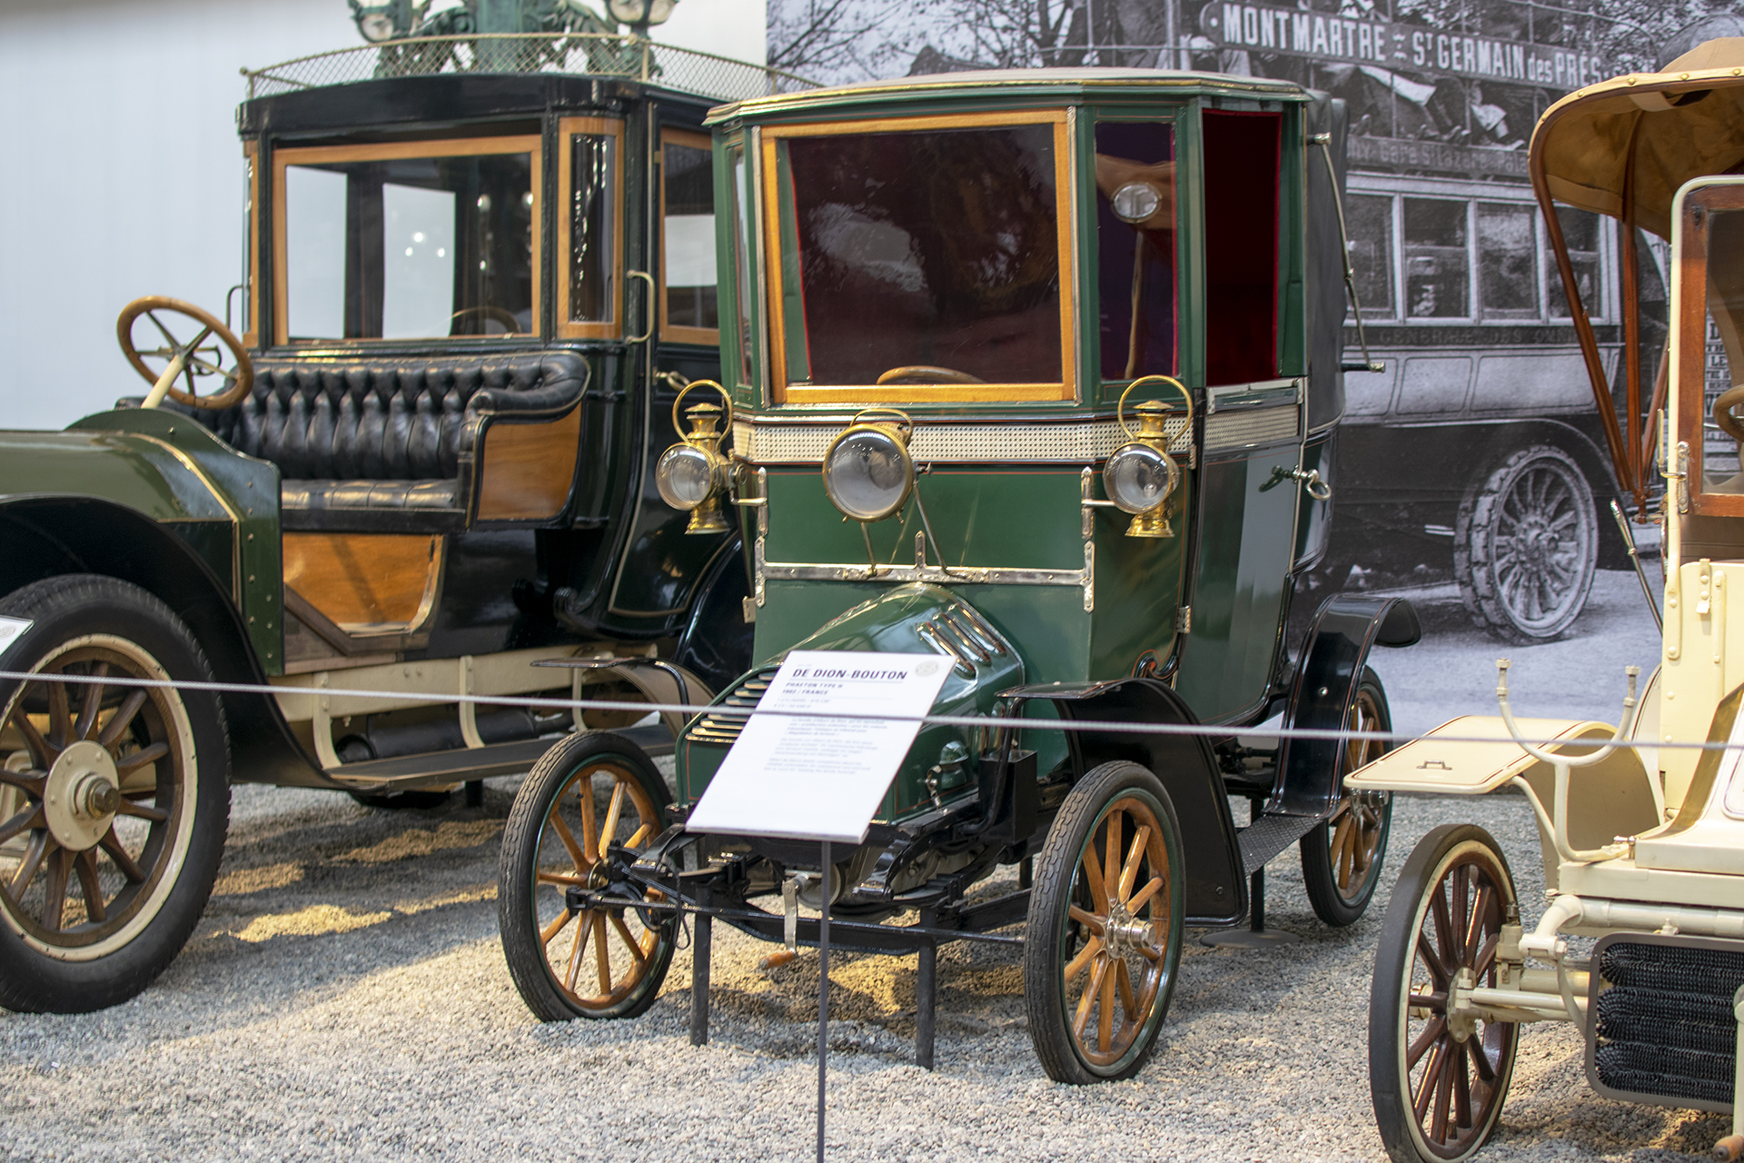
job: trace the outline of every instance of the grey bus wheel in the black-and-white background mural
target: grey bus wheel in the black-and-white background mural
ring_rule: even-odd
[[[1599,511],[1575,459],[1510,453],[1460,502],[1453,574],[1472,619],[1502,642],[1559,638],[1587,605]]]

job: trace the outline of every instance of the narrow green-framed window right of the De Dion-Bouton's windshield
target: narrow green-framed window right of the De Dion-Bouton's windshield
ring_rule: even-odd
[[[1102,378],[1175,370],[1175,138],[1153,122],[1095,127]]]

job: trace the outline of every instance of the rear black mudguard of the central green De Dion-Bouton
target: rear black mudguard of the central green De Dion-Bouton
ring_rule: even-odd
[[[1343,727],[1369,650],[1376,643],[1409,647],[1421,638],[1416,609],[1406,598],[1332,595],[1320,605],[1308,629],[1284,724],[1324,731]],[[1284,739],[1278,781],[1266,811],[1291,816],[1324,816],[1332,811],[1339,797],[1341,746],[1338,739]]]

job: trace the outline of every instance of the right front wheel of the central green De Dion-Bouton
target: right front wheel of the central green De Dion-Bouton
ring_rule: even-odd
[[[1153,833],[1149,839],[1165,849],[1160,861],[1156,860],[1160,853],[1146,846],[1142,861],[1134,865],[1137,877],[1132,879],[1125,893],[1116,889],[1121,901],[1132,900],[1142,894],[1149,879],[1158,875],[1158,863],[1168,865],[1167,882],[1148,901],[1141,903],[1139,914],[1144,917],[1142,910],[1151,910],[1148,915],[1151,933],[1155,933],[1158,921],[1167,928],[1160,950],[1156,950],[1155,942],[1149,943],[1149,949],[1160,952],[1155,959],[1130,950],[1109,957],[1095,929],[1073,919],[1069,912],[1074,905],[1100,917],[1114,912],[1107,900],[1097,901],[1088,877],[1080,877],[1080,863],[1099,828],[1102,828],[1106,851],[1107,830],[1102,823],[1116,807],[1121,807],[1123,820],[1130,814],[1132,820],[1155,823],[1155,832],[1160,835]],[[1116,849],[1127,854],[1127,861],[1132,860],[1137,847],[1137,832],[1139,826],[1132,826],[1128,832],[1127,825],[1121,823],[1116,835]],[[1092,860],[1095,861],[1095,856]],[[1102,874],[1106,875],[1106,868]],[[1168,999],[1175,989],[1175,969],[1181,961],[1182,900],[1181,825],[1162,781],[1148,769],[1130,762],[1102,764],[1092,769],[1066,797],[1060,814],[1048,828],[1048,839],[1034,863],[1034,889],[1029,896],[1029,926],[1024,943],[1024,1008],[1029,1015],[1029,1037],[1048,1078],[1057,1083],[1088,1085],[1132,1078],[1144,1069],[1156,1050],[1156,1037],[1168,1015]],[[1165,915],[1158,915],[1160,912]],[[1099,952],[1088,952],[1093,943],[1099,945]],[[1083,957],[1085,964],[1078,973],[1069,975],[1067,969],[1074,957]],[[1132,983],[1132,966],[1139,966],[1141,973],[1151,976]],[[1109,1053],[1099,1062],[1095,1060],[1097,1051],[1087,1050],[1073,1030],[1073,1015],[1067,1013],[1073,999],[1067,985],[1088,973],[1088,985],[1080,994],[1080,999],[1085,999],[1097,989],[1097,982],[1102,982],[1107,973],[1120,973],[1121,968],[1128,969],[1125,975],[1127,990],[1135,1004],[1132,1010],[1121,1008],[1118,1015],[1121,1044],[1114,1043],[1111,1029]],[[1104,1001],[1093,1004],[1099,1024],[1104,1010],[1109,1015],[1114,1013],[1114,1008],[1106,1004],[1109,992],[1111,989],[1104,990]],[[1092,1004],[1085,1003],[1080,1010],[1080,1020],[1088,1022]],[[1137,1010],[1135,1018],[1132,1017],[1134,1010]],[[1113,1017],[1109,1024],[1113,1027]]]

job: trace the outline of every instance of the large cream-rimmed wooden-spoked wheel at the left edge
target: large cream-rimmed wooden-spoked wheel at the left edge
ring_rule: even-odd
[[[40,675],[0,687],[0,1006],[99,1010],[143,990],[206,907],[228,818],[223,713],[211,692],[117,682],[211,680],[136,586],[56,577],[0,614],[30,622],[0,668]]]

